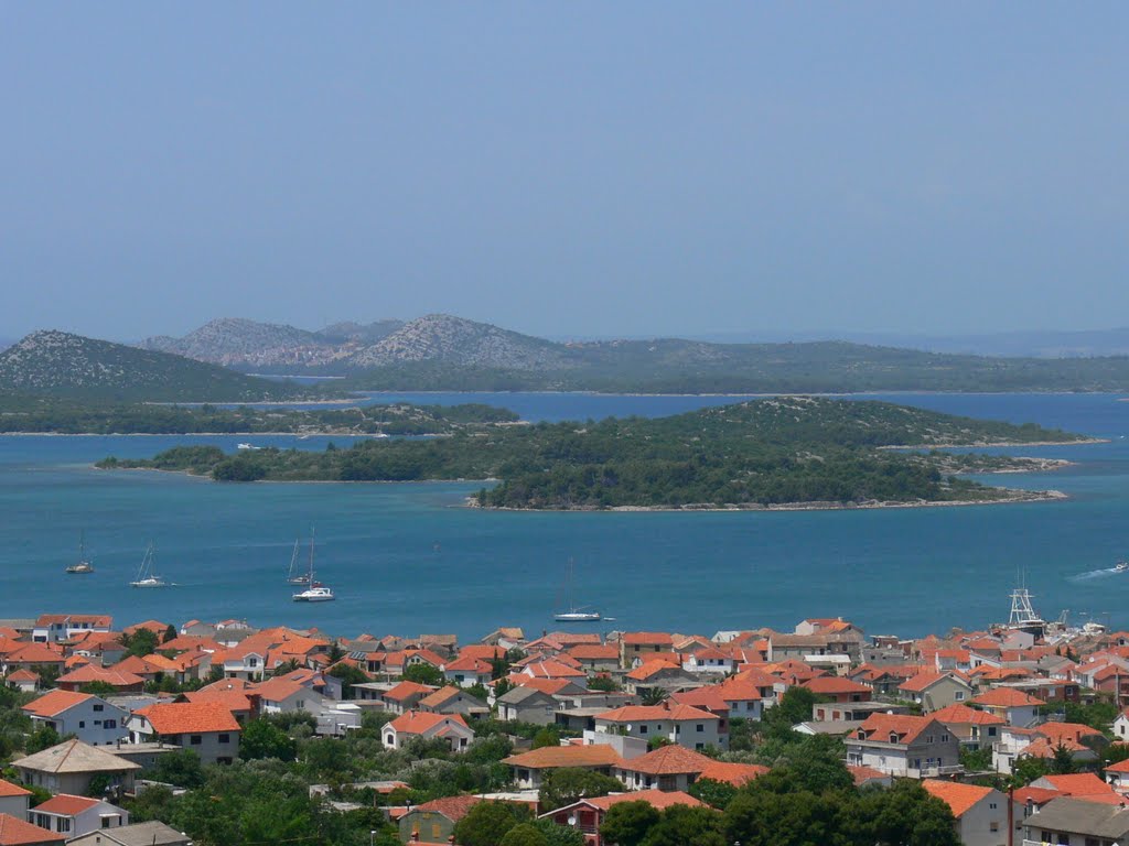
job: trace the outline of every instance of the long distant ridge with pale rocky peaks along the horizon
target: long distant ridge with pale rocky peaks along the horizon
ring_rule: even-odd
[[[1129,390],[1126,356],[981,356],[846,341],[559,343],[450,315],[316,333],[224,319],[147,345],[251,372],[348,376],[352,387],[373,390]]]

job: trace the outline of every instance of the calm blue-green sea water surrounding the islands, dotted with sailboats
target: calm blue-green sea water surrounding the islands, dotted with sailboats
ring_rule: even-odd
[[[789,627],[842,615],[870,633],[903,635],[1006,618],[1025,572],[1044,616],[1071,609],[1129,626],[1129,403],[1112,395],[896,395],[910,405],[1034,421],[1110,439],[1026,448],[1075,467],[994,477],[1054,487],[1061,503],[773,513],[491,513],[464,509],[474,484],[217,485],[173,474],[103,473],[107,455],[142,457],[176,443],[234,449],[246,437],[0,438],[0,617],[112,613],[246,618],[356,635],[498,625],[552,628],[569,558],[576,602],[615,623],[592,628]],[[483,402],[527,420],[663,415],[728,397],[553,394],[396,394],[374,402]],[[329,440],[255,438],[322,449]],[[316,526],[318,572],[338,601],[290,601],[283,573],[298,536]],[[80,530],[97,573],[68,576]],[[149,540],[177,587],[128,587]]]

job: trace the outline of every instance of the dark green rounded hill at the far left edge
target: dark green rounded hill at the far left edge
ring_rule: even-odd
[[[52,329],[0,353],[0,391],[81,400],[255,402],[285,399],[289,384],[180,355]]]

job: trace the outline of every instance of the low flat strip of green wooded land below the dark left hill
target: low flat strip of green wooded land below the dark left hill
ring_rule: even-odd
[[[517,420],[511,411],[480,403],[282,408],[0,397],[0,433],[419,435]]]

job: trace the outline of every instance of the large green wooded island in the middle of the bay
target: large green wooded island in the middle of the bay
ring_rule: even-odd
[[[106,469],[149,468],[222,482],[498,479],[478,504],[523,509],[741,508],[994,501],[1015,492],[956,477],[951,453],[983,443],[1075,442],[1033,424],[975,421],[877,402],[778,397],[671,417],[457,430],[428,441],[361,441],[322,452],[227,455],[177,447]],[[983,472],[1010,459],[973,459]],[[1022,467],[1022,465],[1016,465]]]

